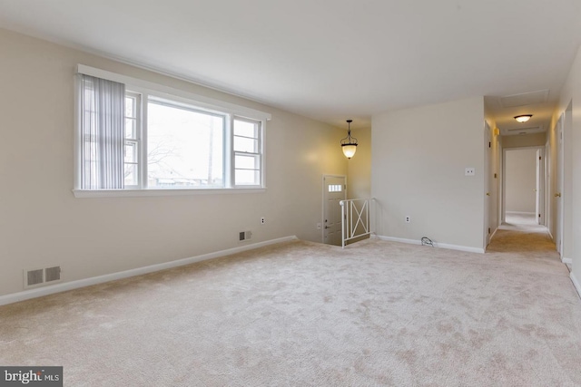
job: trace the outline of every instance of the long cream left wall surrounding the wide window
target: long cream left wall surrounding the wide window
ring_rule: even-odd
[[[346,175],[344,132],[257,102],[0,30],[0,295],[23,269],[61,265],[64,281],[296,235],[320,241],[321,176]],[[114,73],[272,114],[263,193],[74,198],[74,66]],[[260,218],[266,225],[260,225]]]

